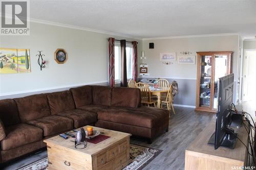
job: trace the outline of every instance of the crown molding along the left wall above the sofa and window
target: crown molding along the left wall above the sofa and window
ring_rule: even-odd
[[[30,18],[30,22],[42,23],[42,24],[45,24],[45,25],[64,27],[64,28],[70,28],[70,29],[76,29],[76,30],[82,30],[82,31],[95,32],[95,33],[100,33],[100,34],[108,34],[108,35],[114,35],[114,36],[120,36],[120,37],[125,37],[125,38],[133,38],[133,39],[137,39],[137,40],[142,40],[141,37],[133,37],[133,36],[127,35],[127,34],[120,34],[120,33],[90,29],[90,28],[85,28],[85,27],[67,25],[67,24],[59,23],[59,22],[52,22],[52,21],[46,21],[46,20],[40,20],[40,19],[34,19],[34,18]]]

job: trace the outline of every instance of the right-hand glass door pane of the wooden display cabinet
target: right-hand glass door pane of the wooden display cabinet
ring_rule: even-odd
[[[228,55],[215,55],[215,73],[214,73],[214,100],[213,108],[218,106],[218,80],[219,78],[229,74],[228,72]]]

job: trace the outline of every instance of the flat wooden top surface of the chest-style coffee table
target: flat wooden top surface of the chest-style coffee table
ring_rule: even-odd
[[[87,129],[88,126],[84,126],[84,130]],[[80,129],[80,128],[79,128]],[[77,130],[79,130],[77,129]],[[98,128],[98,127],[93,127],[93,130],[98,130],[101,132],[102,135],[105,136],[110,136],[110,138],[105,139],[97,144],[93,144],[90,142],[87,142],[87,147],[84,149],[76,149],[75,148],[75,138],[69,136],[68,139],[64,139],[60,137],[59,135],[51,137],[49,139],[45,139],[44,142],[50,145],[56,145],[57,147],[63,147],[66,150],[73,150],[76,152],[80,152],[86,155],[95,155],[102,150],[111,147],[112,145],[118,143],[120,140],[125,139],[127,137],[132,136],[129,133],[123,133],[123,132],[118,132],[118,131],[112,131],[108,129],[103,129],[103,128]],[[103,133],[102,133],[103,132]]]

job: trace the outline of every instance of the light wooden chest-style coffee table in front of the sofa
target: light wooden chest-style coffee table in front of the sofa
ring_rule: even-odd
[[[63,139],[57,135],[44,140],[47,143],[47,169],[122,169],[131,162],[131,134],[97,127],[93,129],[110,138],[97,144],[88,142],[84,149],[76,149],[72,137]]]

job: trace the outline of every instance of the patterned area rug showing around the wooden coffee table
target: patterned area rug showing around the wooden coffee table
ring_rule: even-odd
[[[140,170],[143,169],[148,163],[150,163],[154,158],[156,158],[162,150],[142,147],[139,145],[130,145],[130,157],[132,162],[124,167],[124,170]],[[19,170],[45,170],[48,166],[48,158],[42,158],[35,161],[29,165],[26,165]]]

